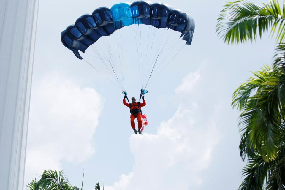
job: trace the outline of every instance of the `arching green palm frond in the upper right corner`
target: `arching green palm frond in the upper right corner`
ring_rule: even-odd
[[[253,41],[268,31],[276,35],[276,42],[285,39],[284,1],[281,9],[278,0],[263,7],[246,0],[228,2],[217,19],[216,32],[226,43]]]

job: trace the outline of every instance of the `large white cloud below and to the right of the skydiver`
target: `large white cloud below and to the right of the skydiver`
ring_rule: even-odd
[[[176,92],[193,92],[200,83],[200,71],[187,75]],[[213,148],[219,142],[216,110],[206,115],[201,102],[184,100],[176,113],[158,126],[156,134],[130,137],[135,164],[132,172],[121,175],[106,190],[198,189],[202,171],[208,168]]]

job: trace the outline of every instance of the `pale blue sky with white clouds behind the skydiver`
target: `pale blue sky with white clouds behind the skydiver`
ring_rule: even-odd
[[[238,150],[239,112],[232,109],[231,97],[251,71],[273,61],[274,40],[264,36],[253,43],[227,45],[215,32],[227,1],[165,0],[191,15],[196,28],[192,44],[184,46],[147,86],[143,113],[149,125],[142,135],[135,135],[121,89],[106,79],[112,77],[100,60],[81,53],[103,75],[77,59],[60,40],[61,31],[81,15],[118,2],[39,2],[25,185],[38,180],[45,169],[56,169],[81,187],[84,167],[85,190],[94,189],[97,182],[101,187],[104,182],[106,190],[237,189],[245,163]],[[124,90],[138,99],[143,71],[135,30],[133,26],[120,30]],[[141,30],[146,43],[148,28]],[[113,35],[104,40],[116,48],[117,34]],[[159,41],[153,40],[154,47]],[[98,40],[97,48],[104,42]]]

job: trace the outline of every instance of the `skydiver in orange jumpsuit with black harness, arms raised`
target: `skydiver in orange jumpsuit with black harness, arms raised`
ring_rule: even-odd
[[[145,106],[145,97],[143,96],[142,99],[143,99],[143,103],[136,102],[135,97],[132,97],[132,103],[126,102],[126,96],[124,96],[124,99],[123,99],[124,105],[130,108],[131,126],[132,126],[132,129],[134,129],[134,134],[137,134],[137,132],[139,132],[139,134],[142,134],[140,130],[142,128],[142,123],[143,123],[142,115],[141,115],[141,107]],[[134,124],[134,118],[137,118],[138,131],[136,130],[136,126]]]

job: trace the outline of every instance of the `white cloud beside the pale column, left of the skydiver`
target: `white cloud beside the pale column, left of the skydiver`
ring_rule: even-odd
[[[92,136],[103,108],[93,88],[52,73],[33,81],[29,115],[25,185],[45,169],[61,170],[61,161],[82,162],[95,152]]]

